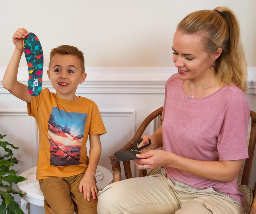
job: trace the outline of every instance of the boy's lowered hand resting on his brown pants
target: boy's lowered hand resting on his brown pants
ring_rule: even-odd
[[[84,199],[87,199],[87,201],[91,201],[91,193],[92,198],[95,200],[98,194],[98,187],[96,186],[94,175],[86,174],[85,172],[84,177],[80,181],[79,190],[80,193],[84,192]]]

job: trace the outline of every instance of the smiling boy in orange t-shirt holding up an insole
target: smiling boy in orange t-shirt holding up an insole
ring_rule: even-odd
[[[56,94],[45,88],[38,96],[30,96],[28,87],[17,81],[27,35],[22,28],[12,36],[16,47],[3,87],[27,102],[28,114],[36,119],[40,140],[36,179],[44,194],[45,213],[97,213],[95,172],[101,153],[100,135],[106,129],[97,105],[75,94],[86,78],[83,53],[69,45],[52,49],[47,74]],[[89,158],[85,146],[88,135]]]

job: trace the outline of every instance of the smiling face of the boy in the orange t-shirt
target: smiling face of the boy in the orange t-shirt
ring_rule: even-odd
[[[71,54],[54,54],[47,74],[57,96],[66,100],[77,99],[76,88],[86,78],[80,59]]]

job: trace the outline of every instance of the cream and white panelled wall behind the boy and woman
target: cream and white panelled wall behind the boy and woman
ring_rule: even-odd
[[[6,141],[20,146],[15,156],[20,172],[36,165],[37,126],[27,116],[26,103],[2,88],[2,78],[12,56],[12,34],[19,27],[35,33],[44,50],[43,86],[49,52],[70,44],[84,52],[87,79],[77,95],[94,100],[108,133],[102,135],[100,165],[111,170],[109,159],[116,148],[128,141],[140,122],[163,105],[164,83],[176,72],[172,62],[172,36],[178,22],[189,12],[231,8],[241,25],[248,63],[250,108],[256,111],[256,1],[255,0],[44,0],[0,2],[0,133]],[[25,57],[18,79],[27,83]],[[146,134],[154,130],[151,124]],[[255,169],[256,164],[253,168]],[[133,166],[133,174],[135,168]],[[250,185],[254,185],[255,170]]]

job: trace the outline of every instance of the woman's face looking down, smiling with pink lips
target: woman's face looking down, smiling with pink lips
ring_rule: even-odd
[[[176,30],[173,37],[173,62],[178,68],[181,80],[204,80],[215,72],[212,67],[213,55],[203,49],[203,34],[184,34]]]

